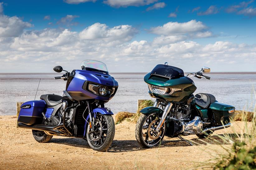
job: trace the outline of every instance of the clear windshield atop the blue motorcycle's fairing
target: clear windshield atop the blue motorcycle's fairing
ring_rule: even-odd
[[[97,60],[83,60],[81,63],[82,70],[95,70],[108,72],[107,65]]]

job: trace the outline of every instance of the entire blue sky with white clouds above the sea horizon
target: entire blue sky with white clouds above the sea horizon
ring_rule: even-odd
[[[0,0],[0,73],[256,71],[255,21],[254,0]]]

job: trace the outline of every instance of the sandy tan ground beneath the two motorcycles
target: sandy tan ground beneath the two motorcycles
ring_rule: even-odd
[[[235,122],[233,128],[214,134],[232,134],[242,124]],[[184,138],[199,142],[195,135]],[[211,139],[219,138],[213,135]],[[38,143],[31,130],[16,128],[16,117],[0,116],[0,169],[184,169],[209,163],[213,157],[209,148],[222,152],[221,145],[201,142],[189,146],[178,138],[165,137],[161,146],[141,149],[135,139],[135,123],[124,121],[116,125],[108,152],[97,152],[78,138],[54,136],[48,143]]]

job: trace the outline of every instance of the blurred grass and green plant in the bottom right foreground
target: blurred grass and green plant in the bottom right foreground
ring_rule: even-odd
[[[256,107],[254,112],[242,111],[241,113],[239,119],[243,121],[244,126],[239,129],[239,132],[234,129],[232,135],[216,135],[225,143],[232,144],[232,147],[230,145],[221,146],[221,152],[209,148],[213,151],[212,155],[217,154],[217,157],[214,159],[216,163],[208,165],[208,168],[220,170],[256,169]],[[248,123],[248,119],[251,123]]]

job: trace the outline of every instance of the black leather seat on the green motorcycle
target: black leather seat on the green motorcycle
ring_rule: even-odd
[[[198,93],[195,96],[196,104],[201,108],[208,108],[209,105],[216,101],[212,94]]]

